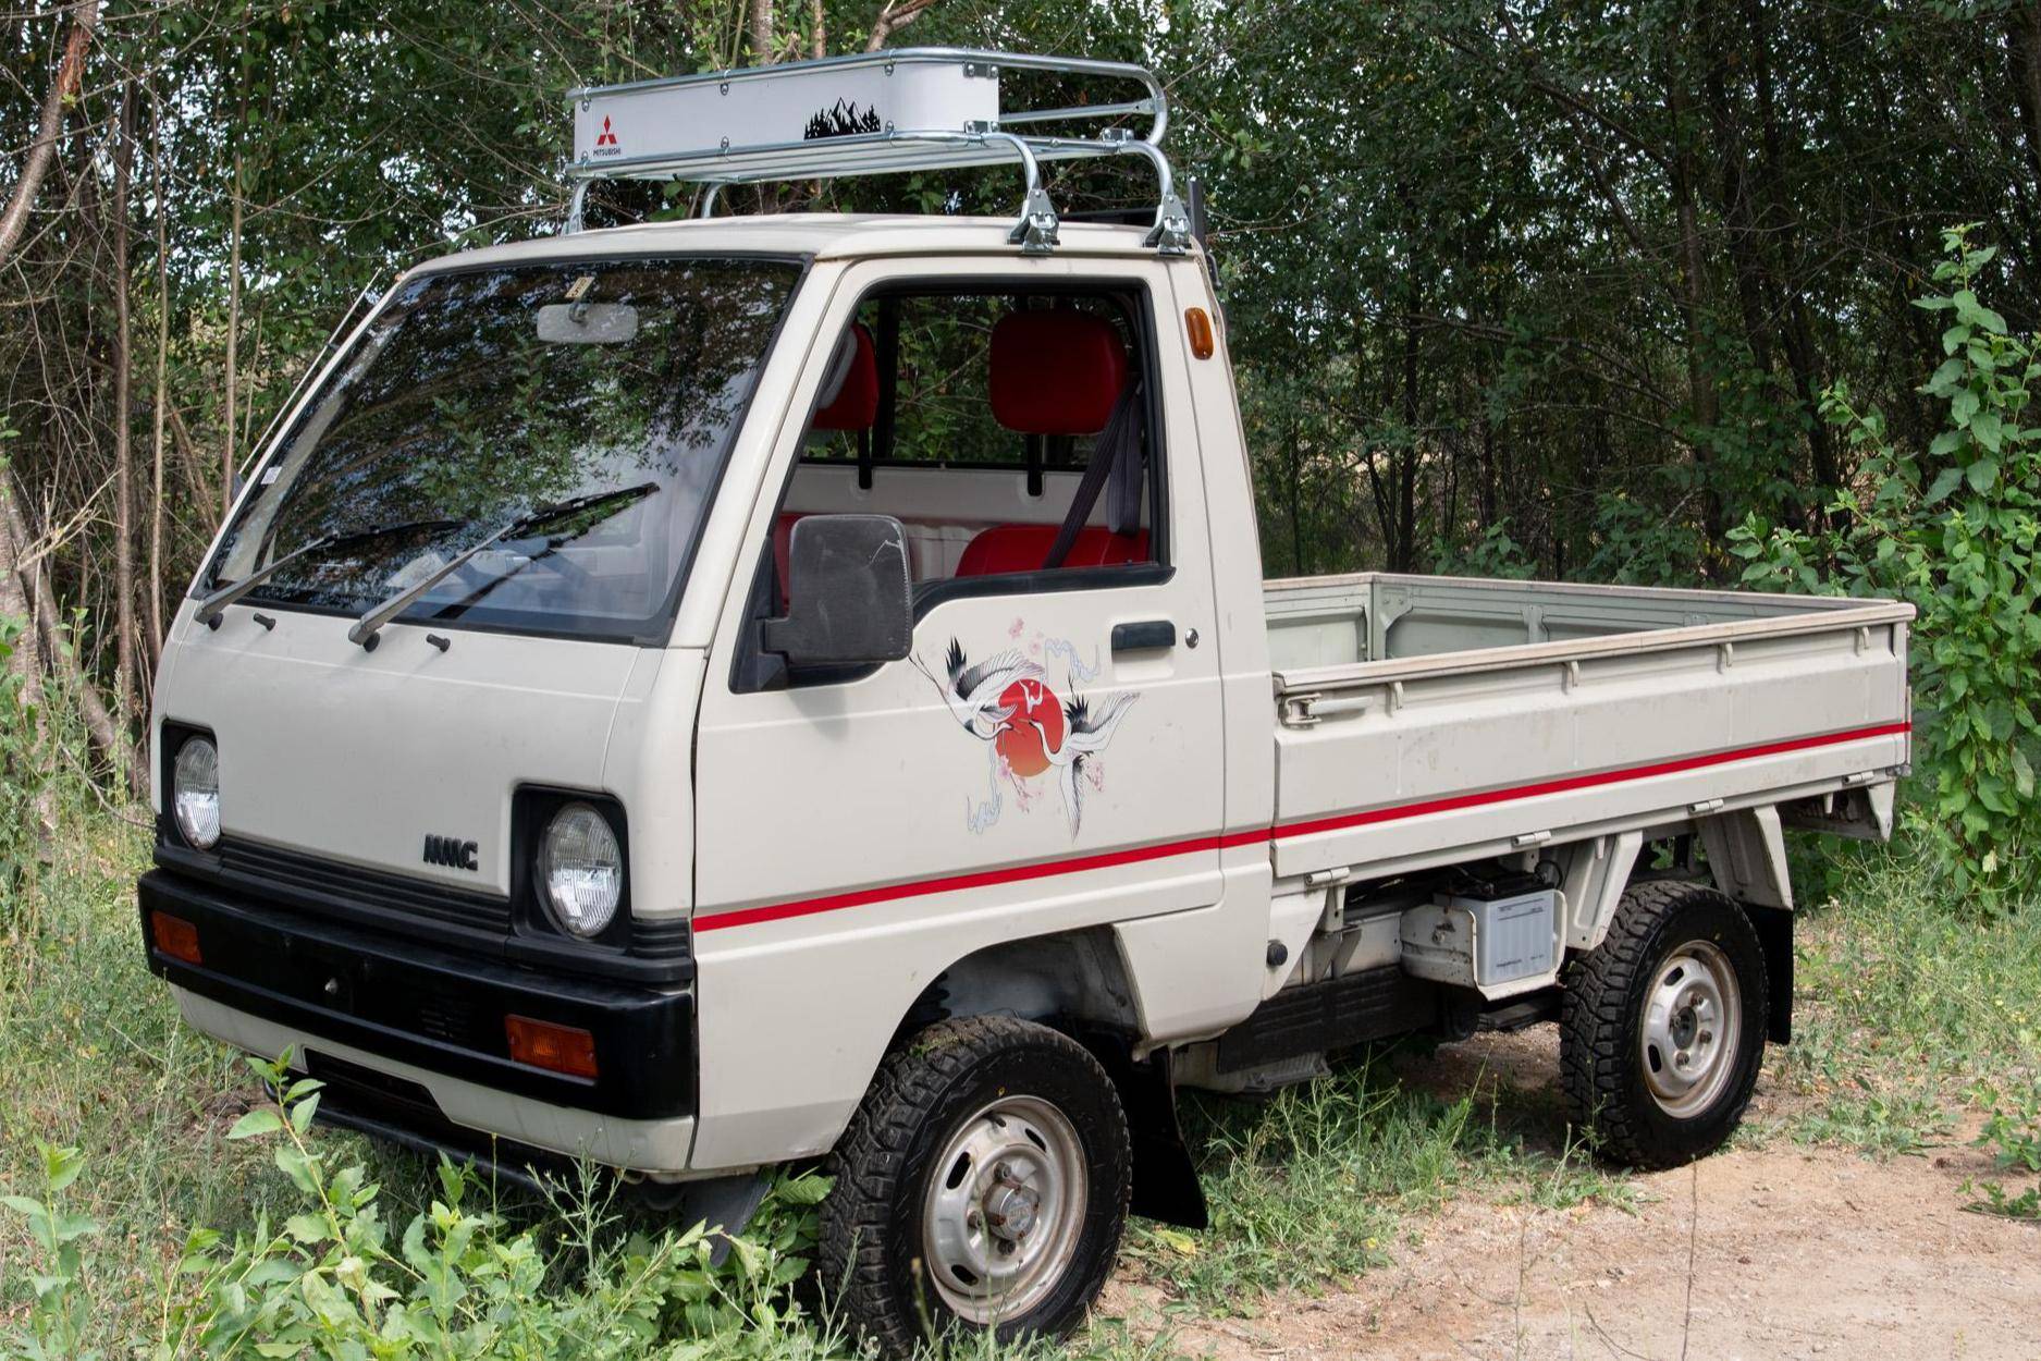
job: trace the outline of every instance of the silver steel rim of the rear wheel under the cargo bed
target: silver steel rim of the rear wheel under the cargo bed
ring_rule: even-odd
[[[1737,971],[1710,941],[1688,941],[1659,965],[1637,1037],[1651,1100],[1670,1116],[1706,1110],[1729,1086],[1743,1039]]]

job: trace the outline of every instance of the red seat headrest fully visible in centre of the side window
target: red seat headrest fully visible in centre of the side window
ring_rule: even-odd
[[[1098,435],[1127,386],[1121,333],[1088,312],[1008,312],[992,326],[992,416],[1020,435]]]

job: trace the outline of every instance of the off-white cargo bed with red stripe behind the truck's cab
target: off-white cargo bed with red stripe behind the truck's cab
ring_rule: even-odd
[[[1906,604],[1390,573],[1263,600],[1278,877],[1686,822],[1908,759]]]

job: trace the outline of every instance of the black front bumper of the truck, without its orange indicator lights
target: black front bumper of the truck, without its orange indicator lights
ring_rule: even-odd
[[[137,886],[149,969],[202,998],[433,1073],[596,1114],[694,1114],[694,994],[559,975],[290,912],[155,869]],[[198,928],[161,953],[149,912]],[[588,1030],[596,1077],[510,1059],[504,1016]]]

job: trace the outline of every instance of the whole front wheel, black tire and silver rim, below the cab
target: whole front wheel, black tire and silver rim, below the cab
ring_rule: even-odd
[[[959,1326],[1002,1341],[1067,1332],[1127,1224],[1112,1079],[1069,1037],[1010,1016],[910,1039],[831,1163],[823,1286],[892,1355]]]

